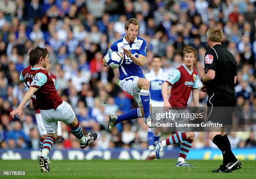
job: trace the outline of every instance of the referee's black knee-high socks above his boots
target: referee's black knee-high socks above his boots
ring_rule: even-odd
[[[236,161],[236,157],[235,159],[233,158],[234,154],[231,151],[228,141],[226,141],[226,139],[223,136],[221,136],[220,134],[214,136],[214,138],[212,139],[212,142],[215,143],[215,145],[218,146],[218,148],[222,152],[223,167],[226,167],[226,165],[230,162]]]

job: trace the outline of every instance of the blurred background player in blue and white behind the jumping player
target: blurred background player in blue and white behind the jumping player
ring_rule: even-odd
[[[167,79],[168,73],[164,72],[161,68],[161,57],[154,56],[151,62],[152,69],[150,72],[145,74],[145,78],[150,82],[150,97],[152,107],[163,107],[164,99],[162,97],[161,88],[163,82]],[[149,156],[147,160],[150,160],[150,156],[155,156],[155,145],[154,142],[159,140],[161,133],[148,130],[148,150]]]

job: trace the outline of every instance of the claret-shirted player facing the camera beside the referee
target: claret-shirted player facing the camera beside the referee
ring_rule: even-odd
[[[197,51],[192,47],[183,50],[184,64],[169,74],[167,80],[162,85],[162,95],[164,98],[164,107],[187,107],[187,101],[192,91],[193,102],[199,106],[199,94],[197,90],[198,74],[193,68],[196,61]],[[172,86],[171,96],[168,100],[167,87]],[[159,159],[165,146],[175,143],[181,143],[179,158],[176,166],[191,166],[185,159],[192,147],[195,132],[177,132],[164,141],[156,141],[156,157]]]

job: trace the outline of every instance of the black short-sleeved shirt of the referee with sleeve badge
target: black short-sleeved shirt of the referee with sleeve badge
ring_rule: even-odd
[[[208,69],[215,71],[215,78],[205,82],[208,96],[213,93],[229,92],[236,94],[234,77],[236,73],[236,58],[223,45],[215,45],[205,53],[205,73]]]

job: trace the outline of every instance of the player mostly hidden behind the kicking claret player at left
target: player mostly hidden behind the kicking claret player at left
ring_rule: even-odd
[[[49,76],[51,77],[52,81],[54,82],[55,89],[58,90],[57,77],[54,74],[50,73],[51,72],[51,62],[50,61],[48,62],[45,69],[49,72]],[[35,117],[36,117],[36,125],[37,125],[39,135],[40,135],[39,149],[42,150],[43,144],[44,144],[44,139],[46,138],[47,132],[44,128],[44,123],[42,121],[42,117],[41,117],[39,109],[36,110]],[[61,140],[61,136],[62,136],[62,129],[61,129],[60,121],[58,121],[57,134],[58,134],[57,141],[59,141],[59,140]]]

